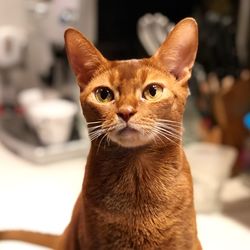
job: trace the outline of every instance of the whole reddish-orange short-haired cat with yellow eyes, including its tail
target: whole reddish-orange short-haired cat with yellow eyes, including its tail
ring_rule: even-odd
[[[91,139],[82,191],[61,236],[5,231],[0,238],[58,250],[202,249],[181,142],[195,20],[180,21],[145,59],[109,61],[72,28],[65,45]]]

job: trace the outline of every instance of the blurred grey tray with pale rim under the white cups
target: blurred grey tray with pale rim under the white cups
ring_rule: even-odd
[[[65,143],[44,145],[37,134],[26,123],[22,115],[5,114],[0,119],[0,140],[17,155],[37,164],[83,157],[87,155],[89,141],[81,138],[77,127],[73,127],[70,139]]]

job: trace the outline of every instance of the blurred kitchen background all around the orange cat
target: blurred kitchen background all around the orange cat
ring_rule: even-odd
[[[205,250],[250,249],[249,0],[0,0],[0,230],[61,233],[81,189],[89,140],[64,30],[108,59],[141,58],[187,16],[199,24],[183,140],[199,236]]]

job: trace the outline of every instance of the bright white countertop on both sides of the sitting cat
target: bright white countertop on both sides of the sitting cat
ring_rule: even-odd
[[[61,233],[80,192],[84,164],[85,159],[78,158],[34,165],[0,144],[0,230]],[[225,186],[223,196],[230,201],[249,198],[250,193],[233,179]],[[250,250],[250,229],[222,214],[198,215],[198,231],[204,250]],[[19,242],[0,243],[0,250],[22,249],[45,248]]]

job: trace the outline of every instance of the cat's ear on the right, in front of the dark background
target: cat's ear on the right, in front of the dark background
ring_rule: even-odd
[[[176,79],[187,81],[191,76],[198,48],[198,28],[193,18],[180,21],[152,57]]]

